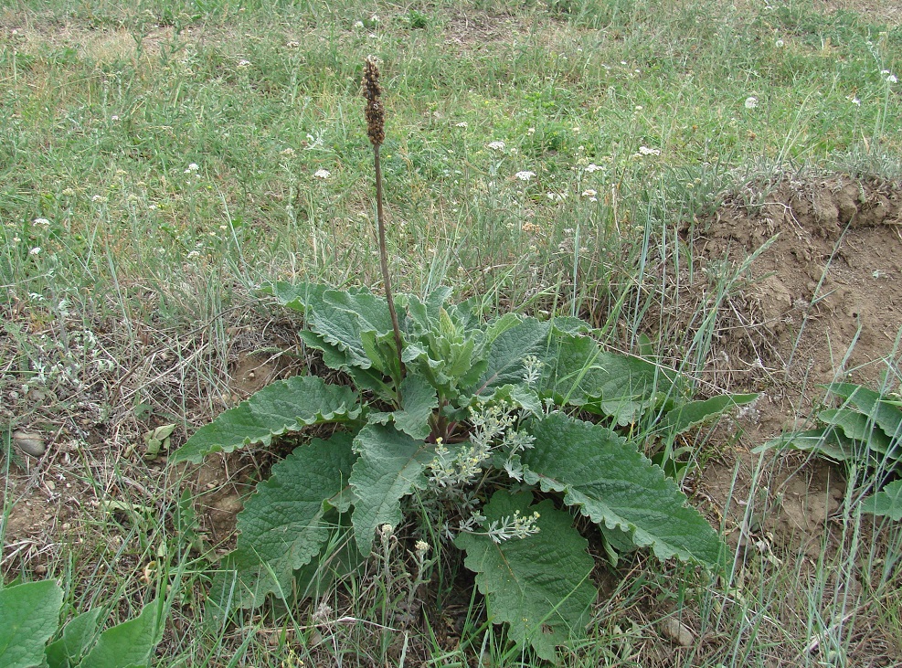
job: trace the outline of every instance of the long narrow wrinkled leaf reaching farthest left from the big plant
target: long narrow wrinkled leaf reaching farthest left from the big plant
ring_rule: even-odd
[[[211,452],[231,452],[251,443],[269,445],[272,437],[312,424],[345,422],[360,415],[350,387],[326,385],[319,376],[294,376],[264,387],[197,429],[170,461],[199,463]]]

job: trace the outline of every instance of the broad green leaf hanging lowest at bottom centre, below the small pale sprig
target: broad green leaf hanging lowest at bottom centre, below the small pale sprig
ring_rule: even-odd
[[[551,500],[531,501],[528,492],[495,492],[483,507],[483,526],[536,512],[537,534],[501,543],[489,535],[461,534],[454,544],[467,553],[463,563],[476,573],[489,619],[509,624],[512,640],[553,661],[557,645],[585,637],[598,592],[589,578],[589,542],[573,527],[573,518]]]

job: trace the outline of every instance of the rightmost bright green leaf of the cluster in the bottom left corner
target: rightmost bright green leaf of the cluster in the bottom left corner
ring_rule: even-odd
[[[103,631],[79,668],[149,666],[154,648],[163,640],[165,610],[165,600],[156,599],[133,620]]]

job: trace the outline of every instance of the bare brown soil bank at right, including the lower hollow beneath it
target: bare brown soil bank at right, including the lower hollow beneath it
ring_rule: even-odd
[[[812,557],[825,534],[840,533],[844,470],[801,455],[760,467],[750,451],[803,428],[824,396],[819,384],[898,386],[902,184],[781,176],[738,189],[685,231],[695,271],[681,277],[671,326],[697,341],[690,319],[713,313],[703,379],[716,391],[759,392],[736,423],[718,428],[738,429],[738,440],[722,434],[737,447],[710,462],[700,486],[716,508],[748,500],[727,518],[733,546],[767,536]],[[743,510],[753,501],[755,526]]]

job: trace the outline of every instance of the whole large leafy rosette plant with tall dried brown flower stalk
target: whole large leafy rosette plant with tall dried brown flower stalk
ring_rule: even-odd
[[[405,526],[424,564],[437,541],[461,551],[489,618],[554,660],[557,647],[585,638],[598,598],[579,515],[598,527],[610,560],[645,548],[724,567],[720,536],[640,448],[672,447],[686,429],[755,397],[692,401],[681,376],[604,349],[578,318],[504,313],[486,322],[481,302],[452,302],[447,287],[393,295],[375,58],[366,59],[363,94],[385,298],[307,282],[266,290],[302,313],[303,343],[350,383],[276,381],[170,458],[199,463],[317,425],[331,434],[305,440],[249,497],[211,603],[222,612],[320,596],[329,578],[376,558],[379,535]]]

